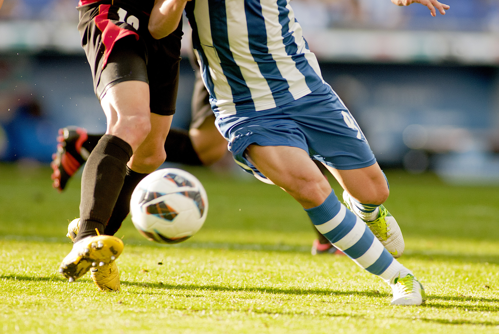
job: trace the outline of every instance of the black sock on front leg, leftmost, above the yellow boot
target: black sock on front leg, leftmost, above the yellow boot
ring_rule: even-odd
[[[88,157],[81,177],[80,228],[75,242],[104,229],[113,212],[126,175],[132,147],[105,134]]]

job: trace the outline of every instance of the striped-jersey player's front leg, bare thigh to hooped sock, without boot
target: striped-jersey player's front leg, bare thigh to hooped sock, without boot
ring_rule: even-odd
[[[305,209],[312,223],[360,267],[389,282],[409,273],[353,212],[341,204],[308,153],[296,147],[247,148],[250,162]]]

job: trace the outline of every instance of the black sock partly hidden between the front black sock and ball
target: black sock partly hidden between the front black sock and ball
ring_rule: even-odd
[[[128,166],[126,167],[126,176],[123,182],[123,187],[121,187],[120,195],[114,205],[111,218],[109,218],[109,222],[104,229],[104,234],[112,236],[121,227],[121,223],[123,223],[126,216],[130,212],[130,198],[132,197],[133,190],[147,175],[149,174],[137,173],[128,168]]]

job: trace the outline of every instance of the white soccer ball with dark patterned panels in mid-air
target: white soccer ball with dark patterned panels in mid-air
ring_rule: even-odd
[[[192,174],[177,168],[157,170],[132,193],[135,228],[147,239],[176,244],[192,237],[205,222],[208,196]]]

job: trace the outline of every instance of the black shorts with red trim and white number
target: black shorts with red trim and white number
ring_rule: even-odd
[[[151,112],[173,115],[182,22],[170,35],[154,39],[148,29],[153,3],[151,0],[102,0],[78,6],[78,30],[99,101],[107,89],[119,82],[144,81],[149,84]]]

